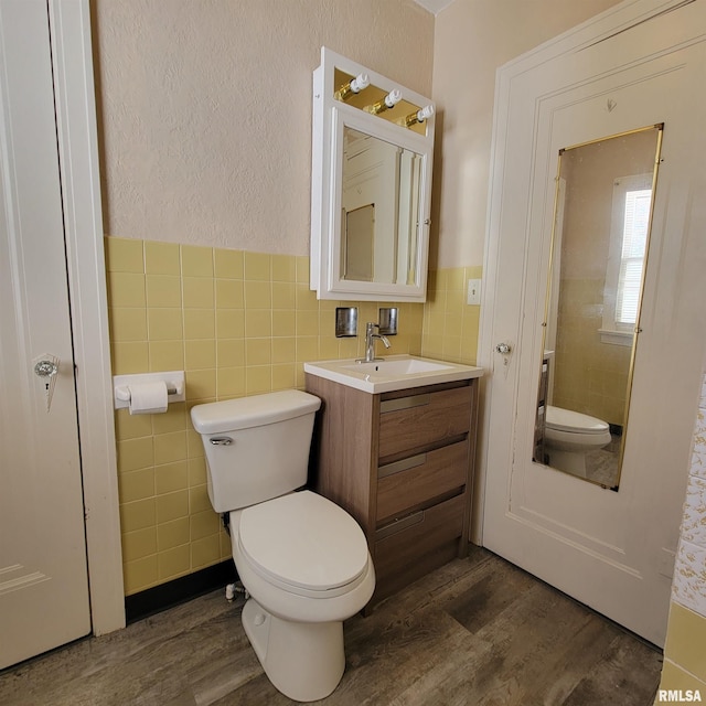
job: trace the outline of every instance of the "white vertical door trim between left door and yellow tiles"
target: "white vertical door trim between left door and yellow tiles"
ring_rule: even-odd
[[[94,634],[125,627],[88,0],[49,0]]]

